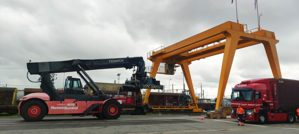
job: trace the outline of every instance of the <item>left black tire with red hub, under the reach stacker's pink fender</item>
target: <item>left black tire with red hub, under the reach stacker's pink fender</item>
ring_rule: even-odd
[[[47,107],[39,100],[26,102],[21,109],[22,117],[26,121],[40,121],[45,117],[46,111]]]

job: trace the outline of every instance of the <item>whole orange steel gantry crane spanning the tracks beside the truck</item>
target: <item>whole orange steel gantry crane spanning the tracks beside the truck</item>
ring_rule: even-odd
[[[192,102],[188,104],[188,109],[201,112],[202,109],[197,106],[189,65],[194,60],[224,53],[215,107],[220,112],[236,49],[263,43],[273,76],[281,78],[275,46],[279,40],[275,39],[274,32],[262,30],[259,27],[257,29],[256,32],[251,32],[247,30],[246,24],[227,21],[178,43],[152,50],[147,53],[147,59],[152,61],[152,67],[149,70],[150,77],[156,77],[157,73],[174,74],[175,67],[181,66],[192,99]],[[147,89],[144,95],[144,104],[148,103],[150,91],[151,89]],[[176,109],[180,108],[176,107]]]

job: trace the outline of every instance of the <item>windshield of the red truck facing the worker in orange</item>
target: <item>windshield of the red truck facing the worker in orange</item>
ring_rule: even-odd
[[[233,91],[232,100],[252,101],[253,91]]]

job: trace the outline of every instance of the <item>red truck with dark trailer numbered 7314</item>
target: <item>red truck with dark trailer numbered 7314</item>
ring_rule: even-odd
[[[299,107],[296,100],[299,90],[296,87],[299,87],[297,80],[269,78],[242,81],[232,89],[231,118],[238,118],[235,111],[240,105],[245,111],[243,120],[260,124],[267,121],[293,123]]]

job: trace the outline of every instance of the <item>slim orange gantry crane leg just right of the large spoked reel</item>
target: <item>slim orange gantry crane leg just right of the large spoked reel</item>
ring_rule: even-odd
[[[189,65],[190,64],[191,64],[191,62],[182,62],[180,65],[181,65],[181,68],[183,70],[184,77],[186,79],[186,83],[188,85],[189,92],[191,94],[191,98],[193,100],[193,104],[195,104],[194,105],[195,107],[192,109],[192,111],[193,112],[202,112],[202,109],[198,108],[198,106],[197,106],[196,96],[195,96],[195,93],[194,93],[194,90],[193,90],[193,84],[192,84],[191,74],[190,74],[190,70],[189,70]]]

